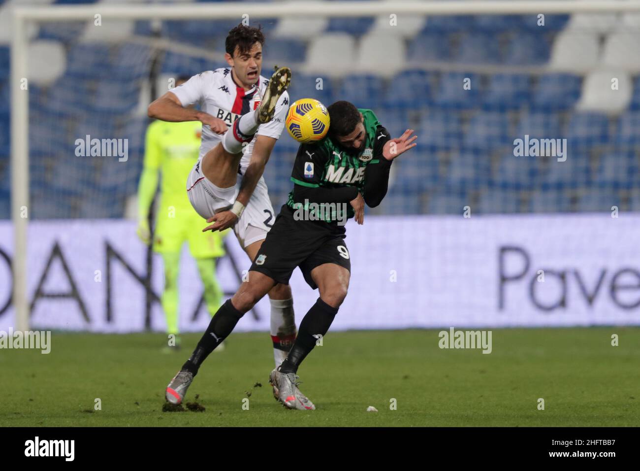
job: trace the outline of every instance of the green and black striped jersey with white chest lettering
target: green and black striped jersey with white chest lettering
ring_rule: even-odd
[[[367,199],[376,199],[374,198],[376,195],[372,195],[372,193],[378,191],[378,185],[365,185],[367,183],[367,169],[371,169],[372,166],[381,166],[387,170],[383,185],[384,193],[380,200],[384,197],[387,192],[388,167],[391,162],[382,156],[382,149],[391,137],[371,110],[358,109],[358,111],[362,113],[364,118],[363,124],[366,133],[364,150],[362,152],[355,149],[348,151],[339,143],[333,142],[329,136],[313,144],[301,144],[291,172],[291,181],[295,185],[328,190],[350,186],[360,192],[365,202],[369,204]],[[353,192],[354,198],[357,192]],[[379,203],[380,201],[369,205],[376,206]],[[296,201],[294,190],[291,190],[286,204],[292,210],[296,210],[301,205],[304,206],[305,202]],[[347,217],[351,218],[353,215],[353,208],[349,204]],[[330,222],[330,220],[335,219],[327,219],[325,222]]]

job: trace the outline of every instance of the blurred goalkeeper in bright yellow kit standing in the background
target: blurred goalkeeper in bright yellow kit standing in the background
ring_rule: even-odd
[[[176,86],[189,77],[177,79]],[[198,161],[202,123],[199,121],[164,122],[157,120],[147,129],[145,161],[138,186],[138,236],[150,244],[148,213],[156,194],[158,176],[162,174],[160,204],[156,215],[154,251],[164,261],[164,291],[161,297],[166,331],[175,335],[179,347],[178,275],[180,252],[184,242],[196,259],[200,279],[204,285],[204,299],[210,315],[221,305],[222,290],[216,280],[216,258],[225,254],[223,234],[200,231],[202,217],[191,206],[184,191],[184,182]],[[166,347],[170,351],[172,347]]]

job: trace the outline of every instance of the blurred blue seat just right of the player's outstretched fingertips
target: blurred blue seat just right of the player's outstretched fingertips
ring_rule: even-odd
[[[447,111],[429,113],[422,118],[416,135],[419,153],[454,149],[462,141],[460,115]]]

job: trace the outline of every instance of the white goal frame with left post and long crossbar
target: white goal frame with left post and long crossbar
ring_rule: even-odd
[[[11,44],[11,171],[13,220],[13,306],[15,330],[29,329],[27,293],[27,230],[29,211],[29,97],[21,90],[28,78],[26,34],[30,21],[93,21],[102,19],[189,20],[250,17],[360,17],[395,14],[415,15],[508,15],[526,13],[564,14],[640,12],[640,0],[458,0],[458,1],[290,1],[274,3],[211,4],[76,4],[14,6]]]

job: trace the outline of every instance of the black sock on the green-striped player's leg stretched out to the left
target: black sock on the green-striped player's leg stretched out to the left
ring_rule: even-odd
[[[196,376],[202,362],[227,338],[243,315],[243,313],[234,308],[231,300],[227,299],[227,302],[220,306],[218,312],[211,318],[209,327],[207,327],[187,362],[182,365],[182,370],[193,373],[193,376]]]

